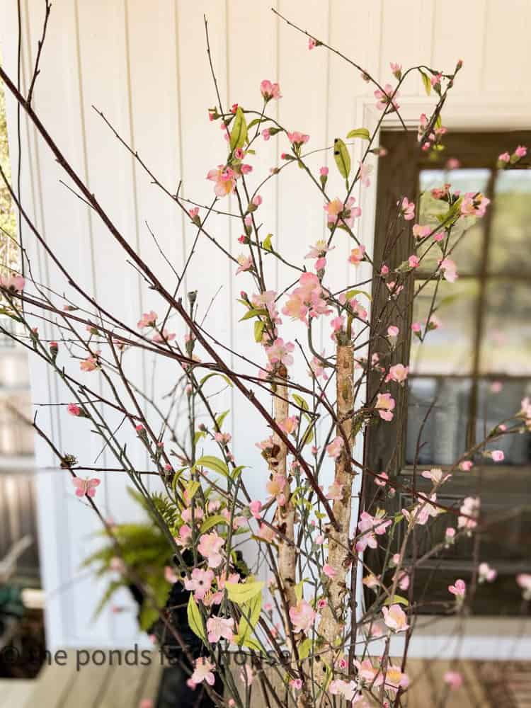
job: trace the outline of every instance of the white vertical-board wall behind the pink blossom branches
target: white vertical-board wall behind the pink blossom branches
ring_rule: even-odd
[[[2,59],[11,76],[16,76],[16,5],[16,0],[4,0],[0,9]],[[27,88],[40,37],[42,2],[21,0],[21,5],[22,85]],[[270,5],[271,0],[53,3],[35,106],[130,244],[163,274],[166,283],[171,283],[171,272],[161,261],[144,221],[149,222],[177,269],[188,253],[194,231],[175,205],[149,184],[91,110],[91,104],[103,110],[161,181],[175,189],[183,178],[184,194],[206,203],[212,196],[212,184],[205,181],[205,174],[224,160],[224,142],[219,124],[207,120],[215,93],[205,54],[203,13],[209,20],[212,55],[226,105],[258,105],[261,79],[279,80],[284,98],[274,110],[292,129],[309,133],[311,147],[330,145],[334,137],[344,137],[350,128],[371,127],[375,122],[372,91],[358,72],[322,49],[309,52],[307,40],[275,18]],[[292,0],[276,5],[382,82],[392,79],[390,61],[404,67],[424,63],[451,70],[462,58],[464,69],[445,110],[445,122],[469,127],[529,127],[531,4],[527,0]],[[402,91],[401,105],[414,125],[426,105],[420,79]],[[11,156],[16,163],[16,108],[9,100],[8,111]],[[161,304],[153,293],[140,287],[139,278],[125,265],[122,253],[98,219],[59,184],[59,166],[24,118],[22,144],[23,201],[62,261],[103,304],[112,303],[130,323],[147,307],[161,311]],[[264,144],[263,155],[255,162],[257,168],[277,164],[283,147],[276,138]],[[315,164],[321,160],[319,156]],[[324,218],[319,199],[295,172],[286,171],[282,181],[273,181],[263,190],[261,217],[266,232],[275,235],[278,248],[288,257],[300,258],[307,245],[323,233]],[[339,189],[338,183],[338,193]],[[374,216],[370,193],[364,196],[362,206],[362,236],[370,248]],[[211,221],[217,238],[237,254],[238,229],[227,227],[221,217]],[[31,249],[29,234],[25,243]],[[345,263],[339,250],[336,263]],[[66,292],[57,271],[35,250],[31,253],[41,281]],[[232,348],[256,356],[256,348],[247,341],[248,329],[244,324],[236,327],[239,311],[232,306],[240,288],[249,287],[245,276],[239,276],[234,285],[227,262],[203,242],[196,259],[201,267],[190,270],[186,289],[198,288],[203,308],[223,285],[208,325]],[[331,267],[339,288],[346,282],[346,266]],[[270,275],[273,287],[287,285],[274,265]],[[150,364],[141,356],[135,362],[144,384]],[[159,392],[173,372],[164,369],[163,374],[159,372],[156,378]],[[57,380],[36,363],[33,392],[35,402],[64,402]],[[263,465],[253,442],[267,433],[258,423],[253,427],[256,418],[244,401],[232,393],[226,399],[219,409],[232,406],[230,426],[236,457],[240,464],[255,465],[258,491]],[[66,417],[58,409],[39,409],[42,425],[62,450],[76,452],[79,459],[93,459],[98,442],[79,421]],[[108,455],[101,459],[111,462]],[[40,469],[55,464],[40,442],[37,461]],[[139,464],[144,464],[142,456]],[[73,498],[69,481],[59,472],[41,471],[38,479],[50,644],[130,644],[135,636],[130,615],[108,612],[98,622],[91,621],[101,588],[78,571],[79,562],[95,543],[89,536],[96,529],[89,510]],[[124,486],[124,479],[109,476],[98,493],[106,513],[118,521],[134,513]]]

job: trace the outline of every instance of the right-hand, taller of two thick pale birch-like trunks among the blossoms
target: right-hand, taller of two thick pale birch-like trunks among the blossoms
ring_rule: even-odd
[[[347,593],[346,573],[350,565],[348,539],[350,532],[350,513],[352,507],[353,470],[350,455],[353,445],[353,378],[354,354],[352,346],[338,345],[337,349],[337,435],[343,438],[345,445],[341,455],[336,458],[336,474],[334,481],[341,484],[343,493],[341,498],[333,503],[333,515],[339,525],[339,531],[331,527],[328,535],[329,552],[327,563],[336,571],[336,575],[329,581],[328,604],[321,612],[319,634],[326,640],[324,661],[332,665],[332,646],[341,644],[345,624]]]

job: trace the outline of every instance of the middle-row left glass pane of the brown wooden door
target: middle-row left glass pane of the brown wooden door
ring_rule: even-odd
[[[416,281],[416,289],[423,283]],[[433,302],[436,282],[428,282],[413,302],[413,322],[422,331]],[[429,331],[421,343],[411,337],[409,366],[416,374],[469,374],[472,371],[474,324],[478,281],[475,278],[441,280],[435,299],[438,329]]]

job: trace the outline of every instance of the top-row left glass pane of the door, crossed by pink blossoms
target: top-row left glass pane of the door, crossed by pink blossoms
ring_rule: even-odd
[[[447,212],[447,202],[435,199],[431,195],[433,188],[441,188],[450,182],[452,191],[484,192],[491,173],[486,169],[453,170],[447,173],[442,170],[422,170],[419,176],[421,200],[419,205],[419,224],[430,226],[432,229],[439,224],[438,216]],[[481,219],[465,217],[452,229],[450,244],[452,258],[459,266],[459,273],[477,273],[481,258],[484,232]],[[433,273],[437,268],[441,256],[440,245],[427,241],[419,251],[421,256],[421,272]],[[431,246],[431,247],[430,247]]]

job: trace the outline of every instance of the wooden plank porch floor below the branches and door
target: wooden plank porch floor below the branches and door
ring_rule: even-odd
[[[443,676],[459,670],[461,688],[449,691]],[[158,653],[149,666],[47,666],[37,679],[0,680],[0,708],[138,708],[156,698],[162,667]],[[531,663],[411,660],[407,708],[530,708]],[[235,677],[236,678],[236,677]],[[257,682],[258,683],[258,682]],[[404,697],[405,699],[406,697]],[[259,687],[252,708],[264,708]]]

